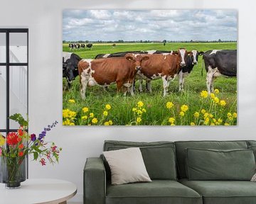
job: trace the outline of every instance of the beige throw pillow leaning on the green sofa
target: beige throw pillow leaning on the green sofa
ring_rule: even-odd
[[[139,147],[103,152],[110,165],[113,185],[151,181]]]

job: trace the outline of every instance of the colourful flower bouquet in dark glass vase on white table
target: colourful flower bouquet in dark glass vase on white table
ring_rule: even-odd
[[[25,120],[21,114],[10,116],[11,120],[15,120],[20,125],[17,132],[9,132],[6,137],[0,133],[0,158],[1,158],[1,175],[2,183],[7,183],[7,187],[18,187],[21,181],[22,164],[28,154],[33,155],[33,160],[39,161],[42,166],[46,165],[46,161],[50,164],[58,162],[61,148],[58,148],[53,142],[45,141],[48,131],[57,125],[55,121],[52,125],[48,125],[43,131],[36,136],[28,134],[28,120]]]

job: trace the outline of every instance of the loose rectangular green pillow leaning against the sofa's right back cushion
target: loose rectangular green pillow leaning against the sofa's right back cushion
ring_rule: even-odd
[[[252,149],[186,149],[189,180],[250,181],[255,174]]]

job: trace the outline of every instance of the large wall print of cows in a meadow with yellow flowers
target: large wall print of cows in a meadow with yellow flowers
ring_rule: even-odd
[[[237,125],[236,10],[64,10],[63,125]]]

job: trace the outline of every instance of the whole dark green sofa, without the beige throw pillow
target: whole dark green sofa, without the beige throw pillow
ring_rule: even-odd
[[[141,149],[144,164],[152,182],[113,186],[110,184],[110,167],[104,157],[87,158],[83,174],[85,204],[256,203],[256,182],[250,181],[250,176],[255,172],[253,153],[256,153],[256,141],[122,142],[108,140],[105,141],[103,150],[129,147]],[[197,159],[198,155],[200,158]],[[210,157],[215,159],[207,159]],[[220,164],[222,158],[228,159],[227,165],[233,159],[235,159],[233,161],[244,162],[245,165],[227,168],[227,172],[224,171],[225,174],[218,175],[219,172],[216,171],[215,166],[221,171],[223,171],[221,168],[227,167],[226,164]],[[192,163],[190,164],[189,161]],[[241,166],[248,167],[243,169]],[[225,176],[227,176],[226,181]]]

